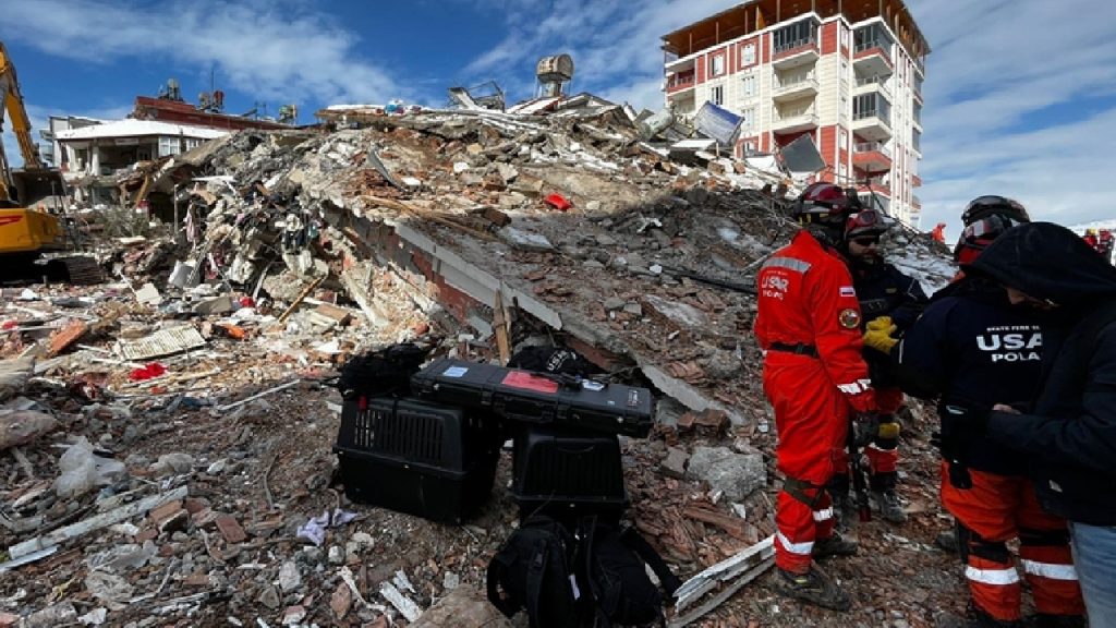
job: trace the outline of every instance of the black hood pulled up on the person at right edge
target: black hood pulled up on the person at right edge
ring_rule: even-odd
[[[1008,229],[962,268],[1058,305],[1116,296],[1116,267],[1077,234],[1052,222]]]

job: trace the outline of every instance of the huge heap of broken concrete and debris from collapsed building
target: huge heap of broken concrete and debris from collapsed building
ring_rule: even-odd
[[[358,129],[244,131],[160,164],[152,185],[174,190],[182,225],[113,240],[118,282],[3,291],[0,627],[483,615],[473,590],[517,525],[510,451],[460,526],[335,487],[329,378],[405,340],[469,360],[558,341],[652,387],[660,425],[623,440],[629,518],[683,578],[772,533],[749,282],[793,232],[793,181],[645,141],[619,107],[358,113]],[[891,246],[927,261],[912,263],[927,287],[947,277],[929,237]],[[914,521],[866,524],[864,562],[836,569],[856,574],[866,625],[956,606],[930,548],[944,522],[929,434],[911,422]],[[922,599],[888,603],[896,575],[925,580]],[[745,591],[704,625],[825,625]]]

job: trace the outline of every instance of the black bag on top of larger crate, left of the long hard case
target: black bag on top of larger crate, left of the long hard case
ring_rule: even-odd
[[[337,389],[345,399],[406,393],[426,353],[416,344],[401,343],[357,355],[341,368]]]

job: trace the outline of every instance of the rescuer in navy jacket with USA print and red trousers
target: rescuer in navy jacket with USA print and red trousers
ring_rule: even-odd
[[[1014,223],[1007,212],[971,220],[955,253],[959,259],[979,259],[981,250]],[[964,411],[987,411],[998,402],[1029,399],[1052,321],[1012,307],[1007,292],[983,276],[966,273],[942,292],[946,294],[935,295],[902,341],[889,337],[893,329],[869,329],[865,344],[891,353],[904,391],[940,396],[941,495],[956,520],[958,546],[966,565],[968,626],[1022,626],[1022,588],[1007,546],[1017,537],[1041,625],[1077,625],[1084,607],[1065,520],[1039,506],[1027,477],[1027,458],[966,430]]]

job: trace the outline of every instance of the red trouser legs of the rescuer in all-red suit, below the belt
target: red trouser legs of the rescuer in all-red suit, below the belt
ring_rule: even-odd
[[[763,365],[763,391],[779,435],[777,467],[787,476],[776,502],[775,562],[786,571],[806,573],[814,542],[834,534],[833,503],[824,487],[845,447],[849,407],[828,384],[821,362],[806,356],[787,362],[769,360]],[[804,389],[808,381],[819,384]]]

